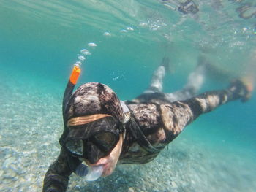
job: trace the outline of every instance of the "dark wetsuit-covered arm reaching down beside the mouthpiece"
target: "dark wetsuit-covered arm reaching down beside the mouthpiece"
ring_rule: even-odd
[[[59,157],[50,165],[45,174],[43,192],[64,192],[67,190],[69,175],[72,173],[69,158],[67,151],[61,148]]]

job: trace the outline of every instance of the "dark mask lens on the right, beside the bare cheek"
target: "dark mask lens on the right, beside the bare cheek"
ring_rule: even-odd
[[[116,144],[116,135],[108,132],[97,134],[94,139],[106,150],[112,149]]]

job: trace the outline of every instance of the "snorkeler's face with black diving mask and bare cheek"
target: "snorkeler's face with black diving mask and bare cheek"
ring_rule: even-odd
[[[65,147],[71,155],[89,166],[102,165],[102,176],[112,174],[123,145],[118,121],[110,115],[96,114],[72,118],[67,126],[70,132]]]

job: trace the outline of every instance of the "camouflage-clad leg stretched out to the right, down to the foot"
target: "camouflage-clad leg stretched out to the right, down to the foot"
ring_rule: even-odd
[[[252,89],[243,80],[233,81],[230,86],[220,91],[208,91],[185,101],[176,101],[161,105],[162,123],[165,128],[165,143],[171,142],[178,134],[199,115],[211,112],[229,101],[246,101]]]

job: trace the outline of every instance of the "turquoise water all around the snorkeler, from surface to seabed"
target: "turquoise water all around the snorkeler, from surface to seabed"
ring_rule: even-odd
[[[59,154],[62,94],[81,49],[91,55],[78,85],[103,82],[123,100],[148,87],[165,55],[173,69],[165,92],[184,85],[200,54],[246,75],[256,48],[255,16],[236,11],[246,3],[253,13],[254,1],[205,0],[196,15],[183,15],[153,0],[0,1],[0,191],[42,191]],[[211,78],[202,91],[226,85]],[[94,183],[73,175],[68,191],[255,191],[255,109],[255,94],[231,102],[198,118],[149,164],[118,166]]]

